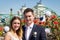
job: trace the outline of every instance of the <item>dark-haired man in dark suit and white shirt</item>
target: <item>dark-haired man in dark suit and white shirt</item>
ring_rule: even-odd
[[[23,40],[46,40],[46,33],[42,26],[34,24],[34,12],[31,8],[24,10]]]

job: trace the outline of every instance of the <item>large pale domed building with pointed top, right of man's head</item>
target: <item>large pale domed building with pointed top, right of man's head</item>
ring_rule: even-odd
[[[34,10],[34,13],[35,13],[35,17],[36,18],[40,18],[40,16],[43,16],[46,13],[48,13],[47,15],[51,15],[51,14],[55,14],[56,15],[56,13],[52,9],[50,9],[48,7],[45,7],[41,3],[41,0],[37,3],[36,6],[33,7],[33,10]]]

